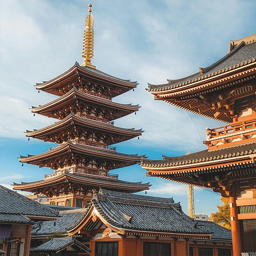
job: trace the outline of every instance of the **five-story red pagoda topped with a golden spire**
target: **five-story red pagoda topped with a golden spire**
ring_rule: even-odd
[[[91,6],[85,19],[83,65],[76,62],[52,80],[35,85],[37,90],[59,97],[31,111],[59,121],[25,134],[59,145],[39,155],[19,157],[22,163],[49,167],[54,173],[44,175],[41,181],[13,184],[14,189],[49,196],[50,204],[83,207],[91,200],[92,191],[99,188],[132,193],[150,186],[121,181],[118,175],[109,174],[109,170],[140,163],[140,156],[117,153],[116,147],[110,146],[142,135],[141,129],[114,126],[114,120],[138,111],[139,106],[112,101],[138,83],[103,73],[91,64]]]

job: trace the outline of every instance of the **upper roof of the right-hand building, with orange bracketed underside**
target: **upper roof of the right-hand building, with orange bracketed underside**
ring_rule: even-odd
[[[200,72],[167,79],[166,84],[149,84],[147,90],[157,100],[230,123],[232,116],[241,114],[242,101],[253,101],[251,105],[255,105],[255,58],[256,34],[238,40],[226,56],[206,68],[199,67]]]

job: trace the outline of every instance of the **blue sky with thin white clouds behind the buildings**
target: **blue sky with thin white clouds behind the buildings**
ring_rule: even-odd
[[[140,140],[117,145],[123,153],[161,159],[205,149],[205,127],[222,124],[188,115],[186,111],[154,101],[147,83],[161,84],[198,72],[227,54],[230,40],[256,31],[254,0],[172,1],[92,0],[95,20],[95,57],[92,64],[111,75],[140,83],[134,92],[114,98],[140,104],[137,115],[115,125],[143,128]],[[47,81],[78,61],[83,63],[84,19],[89,2],[82,0],[0,1],[0,184],[41,180],[51,171],[21,163],[19,155],[47,151],[52,144],[27,140],[24,131],[55,120],[33,117],[29,107],[55,98],[37,93],[35,83]],[[192,119],[191,119],[191,118]],[[193,122],[192,122],[193,120]],[[197,131],[198,130],[198,131]],[[198,134],[199,132],[199,134]],[[201,140],[202,138],[202,140]],[[148,195],[172,197],[187,213],[186,186],[145,176],[139,165],[110,171],[120,179],[152,184]],[[196,213],[216,211],[219,195],[195,188]]]

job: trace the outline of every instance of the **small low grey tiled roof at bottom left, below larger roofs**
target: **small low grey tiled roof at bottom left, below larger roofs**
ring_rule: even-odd
[[[40,246],[30,249],[31,252],[61,252],[68,246],[78,246],[83,252],[90,254],[92,251],[90,248],[76,240],[74,237],[58,237],[52,238],[52,240],[41,244]]]

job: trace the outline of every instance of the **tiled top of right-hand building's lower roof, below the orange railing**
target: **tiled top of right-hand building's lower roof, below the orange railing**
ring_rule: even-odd
[[[214,161],[218,159],[232,158],[242,155],[250,155],[256,153],[256,142],[245,142],[219,149],[203,150],[189,155],[178,157],[167,157],[163,155],[163,160],[149,160],[142,157],[141,166],[145,167],[168,167],[187,165],[190,163],[200,163],[206,161]]]

